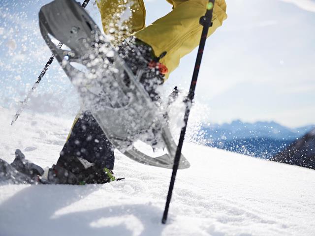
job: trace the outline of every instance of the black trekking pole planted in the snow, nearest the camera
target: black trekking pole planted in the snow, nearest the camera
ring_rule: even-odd
[[[184,116],[185,125],[182,127],[181,135],[180,135],[178,146],[176,149],[174,165],[173,165],[173,172],[172,172],[171,181],[169,184],[165,209],[164,209],[163,218],[162,218],[162,224],[165,224],[166,220],[167,220],[168,209],[169,209],[169,205],[171,202],[175,178],[176,178],[176,174],[177,174],[177,170],[178,170],[178,166],[179,166],[179,162],[180,162],[180,158],[181,158],[182,147],[183,147],[183,143],[184,143],[184,139],[185,139],[185,133],[186,133],[186,127],[187,127],[187,123],[188,123],[188,118],[189,118],[189,113],[190,113],[190,109],[191,109],[191,105],[192,105],[192,100],[193,100],[194,93],[195,93],[196,84],[197,84],[198,73],[199,73],[199,68],[200,68],[201,59],[202,59],[202,55],[203,55],[203,50],[204,50],[204,47],[206,44],[206,39],[207,39],[209,27],[212,27],[212,15],[213,15],[214,3],[215,3],[215,0],[209,0],[209,2],[207,4],[206,14],[200,18],[200,22],[199,22],[200,25],[203,26],[203,29],[202,29],[202,33],[201,33],[201,39],[200,39],[198,55],[197,55],[197,59],[196,59],[196,63],[195,63],[195,68],[194,68],[193,74],[192,74],[189,94],[188,94],[187,98],[184,100],[184,102],[186,104],[186,110],[185,110],[185,116]]]

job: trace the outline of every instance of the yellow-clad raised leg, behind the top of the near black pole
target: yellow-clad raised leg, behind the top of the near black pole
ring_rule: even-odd
[[[173,10],[152,25],[135,33],[135,37],[149,44],[156,56],[167,52],[160,62],[172,72],[181,58],[198,46],[202,31],[199,19],[206,12],[208,0],[167,0]],[[225,0],[216,0],[213,12],[213,27],[210,36],[227,18]]]

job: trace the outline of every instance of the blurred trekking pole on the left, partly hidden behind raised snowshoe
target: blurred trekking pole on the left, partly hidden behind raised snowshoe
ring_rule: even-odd
[[[82,7],[85,8],[87,6],[87,4],[89,3],[90,0],[85,0],[82,3]],[[63,44],[61,42],[58,43],[59,48],[61,48],[63,46]],[[27,103],[29,102],[29,100],[31,99],[31,96],[34,92],[34,90],[38,87],[39,82],[41,81],[41,79],[44,77],[44,75],[46,74],[46,71],[49,69],[49,66],[51,65],[51,63],[54,60],[54,55],[51,55],[49,60],[47,61],[45,67],[43,68],[43,70],[40,72],[35,84],[33,85],[32,89],[29,91],[29,93],[27,94],[26,98],[24,99],[24,101],[21,103],[18,111],[16,112],[16,114],[14,115],[14,118],[11,121],[11,125],[14,124],[14,122],[19,118],[19,116],[21,115],[21,113],[23,112],[24,108],[26,107]]]

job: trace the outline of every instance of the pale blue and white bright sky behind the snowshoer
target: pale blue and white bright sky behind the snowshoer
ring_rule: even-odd
[[[38,11],[49,0],[3,0],[0,6],[0,105],[16,108],[51,53],[41,38]],[[213,123],[241,119],[289,127],[315,123],[315,1],[226,0],[228,19],[207,40],[195,95],[200,118]],[[145,0],[146,24],[172,10]],[[97,8],[88,11],[100,24]],[[163,85],[189,89],[196,50]],[[58,63],[30,102],[38,112],[73,114],[78,96]]]

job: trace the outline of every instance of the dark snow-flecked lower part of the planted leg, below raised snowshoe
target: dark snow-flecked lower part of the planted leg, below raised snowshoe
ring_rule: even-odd
[[[59,184],[106,183],[113,181],[114,148],[90,112],[74,121],[48,180]]]

